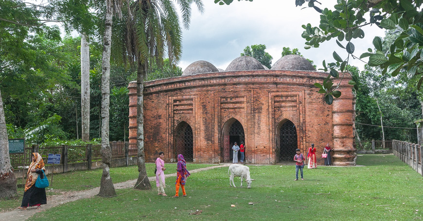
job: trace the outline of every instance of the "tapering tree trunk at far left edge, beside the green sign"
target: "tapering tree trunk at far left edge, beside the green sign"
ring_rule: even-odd
[[[10,165],[9,141],[0,92],[0,199],[14,196],[16,192],[16,176]]]

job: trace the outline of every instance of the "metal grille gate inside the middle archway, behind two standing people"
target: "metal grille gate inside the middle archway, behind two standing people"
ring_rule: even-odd
[[[237,145],[241,145],[241,142],[245,141],[245,135],[244,135],[244,127],[239,121],[235,121],[232,123],[229,129],[229,134],[223,135],[223,142],[224,142],[224,148],[223,148],[223,161],[224,162],[230,162],[233,159],[233,151],[232,146],[235,142],[237,142]],[[245,154],[245,153],[244,153]],[[241,158],[241,154],[238,151],[238,161]]]

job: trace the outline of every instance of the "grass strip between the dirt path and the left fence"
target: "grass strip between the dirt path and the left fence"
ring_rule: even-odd
[[[213,166],[212,164],[188,164],[190,169],[198,169]],[[146,163],[148,177],[155,176],[154,163]],[[176,173],[176,163],[166,163],[165,174]],[[100,179],[103,169],[90,171],[75,171],[65,174],[48,174],[50,187],[47,190],[47,196],[60,194],[61,191],[79,191],[100,187]],[[127,180],[138,178],[138,166],[110,168],[110,177],[113,183],[120,183]],[[22,178],[18,178],[18,184],[22,183]],[[156,187],[156,183],[152,183]],[[14,199],[0,200],[0,211],[7,211],[20,206],[23,197],[23,188],[18,188],[18,195]],[[47,202],[48,203],[48,202]]]

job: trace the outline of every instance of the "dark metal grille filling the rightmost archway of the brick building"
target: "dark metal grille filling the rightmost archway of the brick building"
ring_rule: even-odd
[[[294,123],[287,121],[281,126],[279,139],[279,162],[291,162],[296,154],[295,150],[298,148],[297,128]]]

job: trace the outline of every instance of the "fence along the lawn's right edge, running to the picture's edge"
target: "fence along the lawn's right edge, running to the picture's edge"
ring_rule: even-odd
[[[423,175],[423,147],[419,144],[393,140],[393,153]]]

